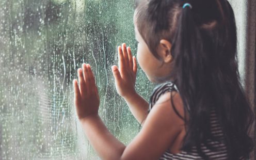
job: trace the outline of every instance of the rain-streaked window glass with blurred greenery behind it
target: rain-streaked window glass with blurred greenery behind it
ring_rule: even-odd
[[[117,94],[111,66],[125,42],[136,56],[134,1],[0,1],[0,159],[100,159],[77,121],[72,80],[90,63],[100,116],[127,145],[139,123]],[[139,67],[139,66],[138,66]],[[136,90],[153,85],[138,68]]]

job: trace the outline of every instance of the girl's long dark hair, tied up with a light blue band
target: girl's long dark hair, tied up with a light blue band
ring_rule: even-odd
[[[190,3],[193,7],[182,6]],[[207,139],[220,141],[210,129],[215,108],[223,129],[229,159],[248,157],[253,113],[237,69],[234,12],[227,0],[137,0],[135,25],[151,53],[159,60],[161,39],[171,42],[174,65],[171,77],[179,89],[185,113],[186,136],[182,150]],[[167,79],[168,80],[168,79]],[[180,115],[179,115],[180,116]]]

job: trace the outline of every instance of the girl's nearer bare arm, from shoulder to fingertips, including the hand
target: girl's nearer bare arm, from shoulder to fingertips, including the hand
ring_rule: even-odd
[[[74,80],[76,114],[94,150],[102,159],[157,159],[184,127],[171,107],[170,92],[162,95],[151,109],[139,134],[125,147],[102,122],[99,94],[89,65],[78,69],[79,86]],[[169,99],[169,100],[168,100]],[[175,96],[173,102],[175,104]],[[180,105],[176,108],[181,113]]]

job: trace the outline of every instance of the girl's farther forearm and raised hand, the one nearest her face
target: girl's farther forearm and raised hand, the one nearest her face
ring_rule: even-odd
[[[117,66],[112,67],[117,92],[124,98],[133,116],[141,123],[148,115],[149,103],[135,91],[137,62],[132,56],[131,48],[126,48],[125,43],[122,47],[118,46],[118,62],[119,69]]]

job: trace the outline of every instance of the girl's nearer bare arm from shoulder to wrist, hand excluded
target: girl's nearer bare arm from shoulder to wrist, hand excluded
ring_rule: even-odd
[[[154,105],[141,131],[127,146],[108,131],[99,116],[85,118],[81,123],[90,144],[102,159],[155,160],[170,147],[183,126],[171,108],[170,101]]]

